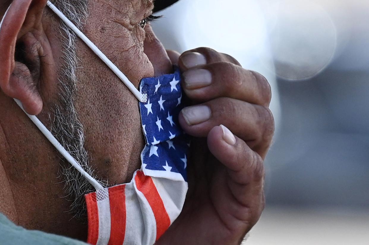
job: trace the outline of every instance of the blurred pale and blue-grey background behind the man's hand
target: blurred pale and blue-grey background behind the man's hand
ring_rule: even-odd
[[[180,0],[166,48],[207,46],[268,78],[267,206],[244,244],[369,245],[369,1]]]

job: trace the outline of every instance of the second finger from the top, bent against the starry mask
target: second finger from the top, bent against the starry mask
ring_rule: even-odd
[[[217,62],[183,73],[183,89],[196,101],[219,97],[240,99],[252,104],[269,106],[272,98],[265,77],[231,62]]]

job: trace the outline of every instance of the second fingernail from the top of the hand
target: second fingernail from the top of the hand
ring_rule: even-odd
[[[205,69],[185,71],[183,78],[187,89],[203,88],[211,84],[211,73]]]

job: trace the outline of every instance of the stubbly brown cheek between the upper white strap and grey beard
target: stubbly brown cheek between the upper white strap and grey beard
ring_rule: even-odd
[[[138,101],[127,87],[84,45],[77,77],[77,112],[84,126],[86,149],[99,177],[110,183],[129,182],[139,168],[144,140]],[[133,50],[133,49],[132,49]],[[138,66],[138,67],[136,67]],[[142,66],[131,67],[137,80]]]

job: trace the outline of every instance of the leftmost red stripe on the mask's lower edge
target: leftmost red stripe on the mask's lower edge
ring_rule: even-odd
[[[96,192],[87,194],[85,199],[89,225],[87,243],[96,245],[99,238],[99,210],[97,209]]]

